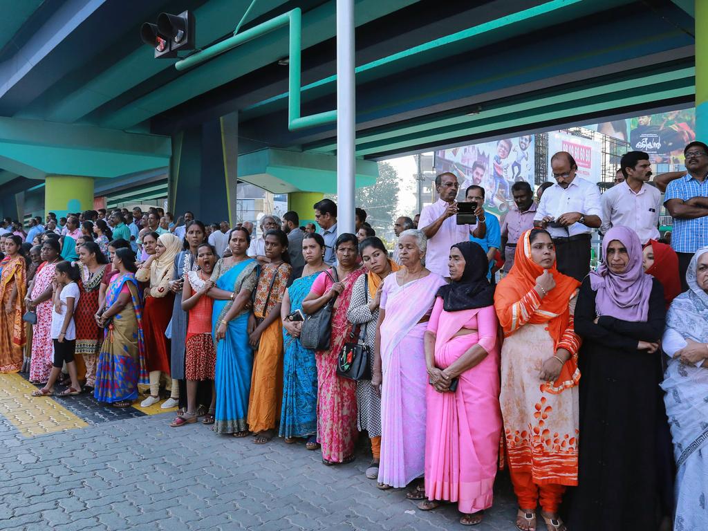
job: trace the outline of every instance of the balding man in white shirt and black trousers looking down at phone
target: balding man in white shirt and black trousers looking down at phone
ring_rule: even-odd
[[[576,176],[578,164],[568,152],[554,154],[551,168],[556,183],[543,193],[534,225],[551,234],[558,270],[582,282],[590,272],[590,233],[602,223],[600,190]]]

